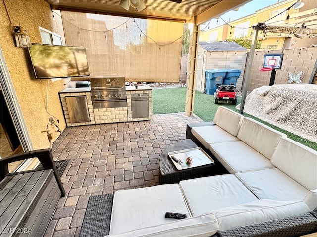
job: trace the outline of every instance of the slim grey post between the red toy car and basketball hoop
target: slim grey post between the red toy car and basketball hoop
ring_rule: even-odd
[[[240,104],[240,110],[239,113],[243,114],[243,108],[244,108],[244,103],[246,101],[247,97],[247,91],[248,91],[248,85],[249,85],[249,78],[251,74],[251,68],[252,68],[252,62],[253,62],[253,57],[254,57],[254,52],[257,46],[257,39],[258,39],[258,29],[256,28],[253,34],[252,42],[251,42],[251,48],[250,48],[250,53],[248,57],[248,63],[247,63],[247,70],[245,74],[245,78],[243,81],[243,93],[242,93],[242,98],[241,98],[241,104]]]

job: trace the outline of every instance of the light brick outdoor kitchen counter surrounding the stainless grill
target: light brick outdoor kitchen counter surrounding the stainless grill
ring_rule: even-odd
[[[115,123],[115,122],[131,122],[131,121],[144,121],[144,120],[151,120],[152,119],[152,88],[147,85],[138,86],[138,88],[135,88],[135,86],[126,86],[126,94],[127,94],[127,118],[118,119],[115,117],[116,115],[108,115],[108,113],[119,113],[118,116],[120,116],[120,113],[123,111],[116,111],[120,108],[109,108],[109,109],[94,109],[92,104],[92,98],[91,98],[91,88],[90,87],[79,87],[79,88],[65,88],[62,91],[59,92],[60,102],[63,109],[64,117],[66,120],[67,127],[71,126],[80,126],[80,125],[90,125],[90,124],[100,124],[100,123]],[[146,101],[131,101],[131,95],[132,94],[141,94],[145,95]],[[69,110],[71,108],[67,107],[67,101],[66,97],[86,97],[87,100],[87,113],[89,114],[89,121],[84,122],[74,122],[71,121],[69,116]],[[133,95],[132,95],[133,97]],[[136,96],[134,96],[136,97]],[[133,99],[132,99],[133,100]],[[142,106],[138,106],[139,104]],[[142,113],[135,112],[138,111],[139,108],[145,107],[144,104],[146,104],[148,108],[148,113],[145,113],[144,110]],[[84,107],[85,107],[84,106]],[[132,108],[133,107],[133,108]],[[76,109],[75,109],[76,110]],[[99,111],[103,110],[103,111]],[[108,110],[108,111],[104,111]],[[112,111],[113,110],[113,111]],[[133,112],[132,112],[133,110]],[[100,115],[100,113],[105,114]],[[123,121],[124,120],[124,121]]]

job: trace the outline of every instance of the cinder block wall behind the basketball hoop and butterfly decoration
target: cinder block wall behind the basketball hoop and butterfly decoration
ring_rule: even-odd
[[[264,54],[266,53],[284,53],[282,68],[276,71],[274,84],[287,84],[288,72],[296,75],[300,71],[304,71],[302,83],[308,83],[313,70],[316,71],[314,65],[317,60],[317,47],[259,50],[254,54],[248,91],[269,85],[271,72],[260,72],[260,68],[263,68]]]

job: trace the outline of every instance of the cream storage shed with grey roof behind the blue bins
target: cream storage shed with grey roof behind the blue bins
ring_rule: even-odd
[[[204,89],[206,88],[206,70],[239,69],[241,75],[237,80],[236,89],[241,90],[247,51],[246,48],[240,46],[236,42],[199,42],[195,89],[204,92]]]

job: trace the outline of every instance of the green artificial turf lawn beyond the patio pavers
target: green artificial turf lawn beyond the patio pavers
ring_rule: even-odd
[[[165,88],[165,89],[156,89],[153,90],[153,114],[166,114],[166,113],[178,113],[185,112],[185,101],[186,101],[186,87],[179,88]],[[238,96],[239,104],[241,102],[241,97]],[[222,101],[218,104],[214,103],[213,95],[207,95],[199,91],[195,91],[195,103],[194,103],[194,114],[200,117],[204,121],[212,121],[214,115],[218,109],[218,106],[225,106],[236,112],[239,112],[232,103],[228,102],[227,104]],[[317,143],[311,142],[305,138],[297,136],[291,132],[280,129],[272,124],[269,124],[261,119],[258,119],[247,113],[243,113],[245,117],[253,118],[257,121],[260,121],[269,127],[276,129],[282,133],[285,133],[288,138],[300,142],[308,147],[317,150]]]

